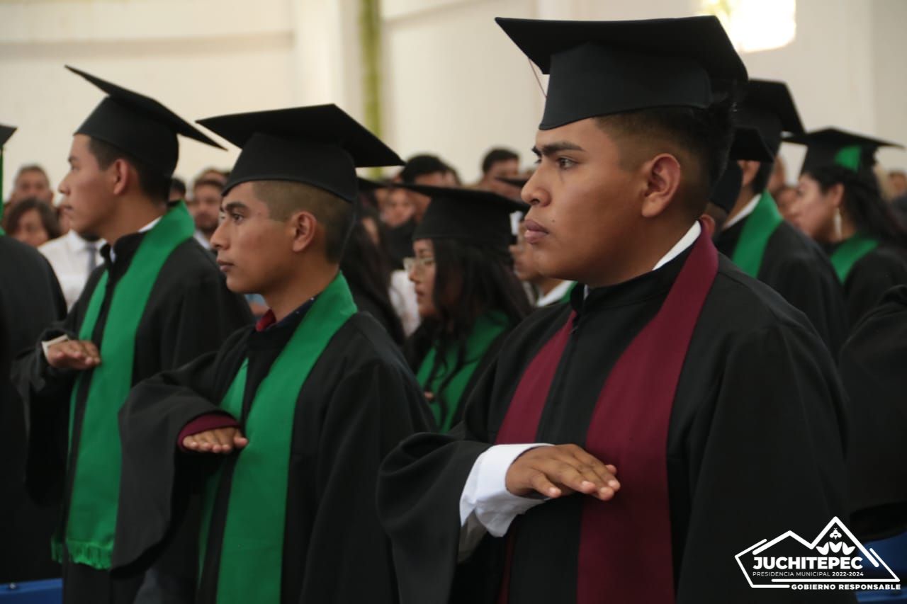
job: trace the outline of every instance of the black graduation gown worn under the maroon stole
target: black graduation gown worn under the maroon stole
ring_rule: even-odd
[[[403,602],[441,604],[449,594],[451,602],[495,601],[506,540],[486,534],[457,567],[459,503],[524,370],[576,308],[536,441],[582,446],[610,368],[654,317],[687,256],[595,289],[585,301],[579,286],[570,305],[536,311],[483,375],[463,424],[451,434],[414,436],[388,456],[378,506]],[[831,356],[802,313],[721,257],[687,359],[667,447],[678,604],[812,601],[751,589],[734,557],[785,531],[814,536],[844,517],[844,395]],[[511,602],[575,601],[582,497],[542,503],[518,519]]]

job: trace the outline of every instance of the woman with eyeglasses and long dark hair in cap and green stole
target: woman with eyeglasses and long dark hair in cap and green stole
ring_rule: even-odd
[[[436,427],[447,432],[504,337],[532,309],[508,252],[510,214],[525,204],[483,190],[406,188],[432,201],[404,263],[423,319],[405,352]]]

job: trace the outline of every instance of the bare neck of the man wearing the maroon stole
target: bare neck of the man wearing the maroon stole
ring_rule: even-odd
[[[617,285],[645,275],[677,245],[692,226],[692,222],[672,219],[664,224],[652,224],[646,229],[634,229],[632,238],[635,245],[625,248],[623,258],[626,260],[621,265],[611,267],[607,273],[596,273],[577,280],[594,288]]]

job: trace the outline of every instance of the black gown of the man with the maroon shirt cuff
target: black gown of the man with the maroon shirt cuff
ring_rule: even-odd
[[[217,354],[132,390],[120,417],[123,482],[115,569],[153,558],[192,486],[223,463],[197,600],[215,601],[225,493],[236,457],[182,453],[178,436],[192,419],[218,409],[247,357],[243,408],[248,413],[258,384],[300,320],[289,318],[263,332],[240,330]],[[312,367],[297,399],[281,602],[396,601],[390,546],[375,512],[375,480],[385,453],[426,429],[424,405],[419,385],[384,329],[364,313],[351,317]]]

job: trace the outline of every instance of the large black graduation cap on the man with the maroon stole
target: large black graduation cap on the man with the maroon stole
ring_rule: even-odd
[[[541,130],[640,109],[705,109],[746,82],[746,67],[715,16],[495,21],[551,74]]]

